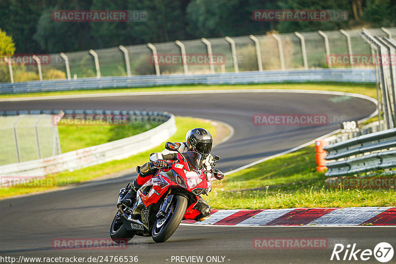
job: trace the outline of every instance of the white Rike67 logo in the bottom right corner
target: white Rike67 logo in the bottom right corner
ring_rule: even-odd
[[[357,249],[356,243],[351,247],[348,244],[346,247],[343,244],[336,244],[331,254],[330,260],[343,261],[368,261],[373,260],[373,257],[382,263],[387,263],[392,260],[394,255],[393,247],[387,242],[378,243],[374,250],[371,249]]]

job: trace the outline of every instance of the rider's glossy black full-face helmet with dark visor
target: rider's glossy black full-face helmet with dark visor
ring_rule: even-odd
[[[197,151],[206,158],[212,150],[212,135],[201,128],[189,130],[186,134],[186,144],[189,150]]]

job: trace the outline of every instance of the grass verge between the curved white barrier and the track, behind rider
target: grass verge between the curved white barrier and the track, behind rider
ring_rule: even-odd
[[[176,117],[176,127],[177,127],[177,132],[173,136],[171,136],[167,141],[172,141],[172,142],[184,141],[186,136],[186,131],[194,127],[205,128],[209,130],[213,136],[216,134],[215,127],[210,122],[201,119],[195,119],[189,117]],[[2,188],[2,189],[0,188],[1,190],[0,199],[18,194],[26,194],[31,192],[53,189],[67,184],[79,183],[103,175],[120,172],[129,168],[134,168],[138,165],[148,162],[149,154],[152,152],[162,151],[164,149],[164,145],[165,142],[162,142],[153,149],[150,149],[148,151],[142,152],[137,155],[133,155],[126,159],[110,161],[95,166],[83,168],[80,170],[75,170],[73,172],[65,171],[58,174],[48,175],[47,177],[53,177],[55,180],[55,184],[51,186],[40,186],[40,187],[15,186],[10,188]]]

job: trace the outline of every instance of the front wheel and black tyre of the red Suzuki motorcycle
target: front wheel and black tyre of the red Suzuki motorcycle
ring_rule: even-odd
[[[151,231],[152,239],[157,243],[168,240],[182,221],[186,209],[187,198],[175,195],[167,215],[164,218],[155,220]]]

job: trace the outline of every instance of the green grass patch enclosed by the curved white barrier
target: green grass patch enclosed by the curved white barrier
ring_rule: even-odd
[[[62,153],[133,136],[158,126],[138,123],[127,126],[58,126]]]

